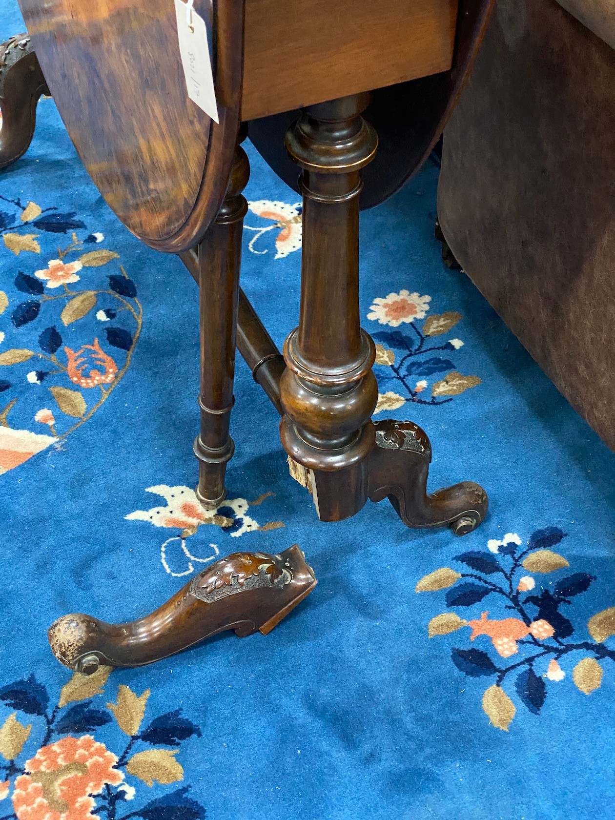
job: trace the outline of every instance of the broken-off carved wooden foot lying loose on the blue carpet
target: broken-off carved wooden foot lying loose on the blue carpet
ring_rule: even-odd
[[[297,544],[279,555],[234,553],[136,621],[65,615],[49,627],[49,644],[61,663],[86,675],[99,666],[144,666],[225,630],[239,637],[257,630],[266,635],[316,585]]]

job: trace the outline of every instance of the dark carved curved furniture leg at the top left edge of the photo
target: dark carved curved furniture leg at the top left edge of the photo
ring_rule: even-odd
[[[17,34],[0,45],[0,168],[24,154],[34,135],[36,103],[48,94],[30,37]]]

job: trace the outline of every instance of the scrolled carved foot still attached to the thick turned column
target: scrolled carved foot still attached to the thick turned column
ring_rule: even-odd
[[[487,514],[487,494],[473,481],[462,481],[428,495],[430,461],[430,441],[420,427],[412,421],[379,421],[368,467],[369,497],[388,498],[407,526],[450,526],[455,535],[467,535]]]

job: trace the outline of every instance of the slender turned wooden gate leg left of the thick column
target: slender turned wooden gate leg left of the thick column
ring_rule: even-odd
[[[241,237],[248,203],[241,192],[250,166],[237,146],[229,187],[216,221],[197,246],[201,317],[201,425],[194,440],[198,458],[196,494],[205,508],[225,497],[226,463],[235,444],[229,435],[235,376],[235,342],[239,305]]]

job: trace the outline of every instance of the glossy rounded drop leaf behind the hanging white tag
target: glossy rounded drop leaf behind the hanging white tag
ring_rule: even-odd
[[[152,248],[194,246],[221,207],[239,130],[243,2],[216,4],[215,125],[187,96],[173,2],[20,0],[84,166]]]

